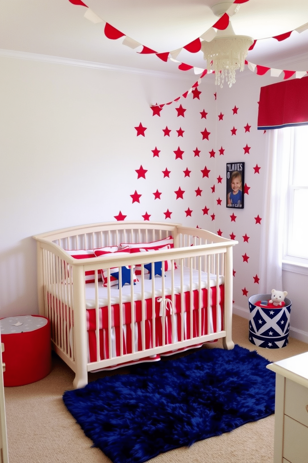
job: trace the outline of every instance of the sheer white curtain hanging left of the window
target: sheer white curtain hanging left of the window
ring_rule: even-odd
[[[284,229],[294,128],[266,131],[266,183],[261,222],[260,294],[282,287]]]

